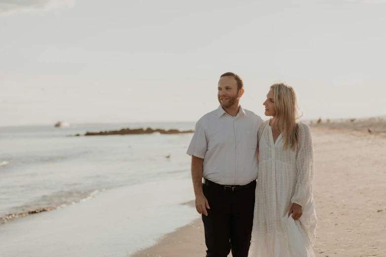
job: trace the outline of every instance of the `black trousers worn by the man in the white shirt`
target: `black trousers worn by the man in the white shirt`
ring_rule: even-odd
[[[203,184],[210,209],[202,215],[207,257],[247,257],[255,204],[256,181],[240,191]]]

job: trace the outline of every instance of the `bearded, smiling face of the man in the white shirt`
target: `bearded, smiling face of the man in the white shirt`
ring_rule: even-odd
[[[220,78],[217,90],[217,98],[222,108],[229,108],[237,102],[239,92],[235,78],[231,76]]]

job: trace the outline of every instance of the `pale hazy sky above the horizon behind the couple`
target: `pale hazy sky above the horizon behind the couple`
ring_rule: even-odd
[[[0,0],[0,126],[196,121],[227,71],[264,116],[386,115],[386,1]],[[264,117],[263,117],[264,118]]]

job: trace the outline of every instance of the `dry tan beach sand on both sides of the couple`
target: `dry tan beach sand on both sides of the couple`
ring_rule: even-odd
[[[381,129],[385,122],[311,127],[318,216],[316,256],[386,257],[386,138]],[[369,132],[370,127],[377,133]],[[204,257],[205,250],[198,216],[157,245],[132,256]]]

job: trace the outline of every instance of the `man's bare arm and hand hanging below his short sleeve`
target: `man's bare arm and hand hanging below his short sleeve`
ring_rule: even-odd
[[[196,210],[199,214],[208,216],[209,203],[203,193],[203,165],[204,159],[192,156],[192,180],[194,195],[196,196]]]

